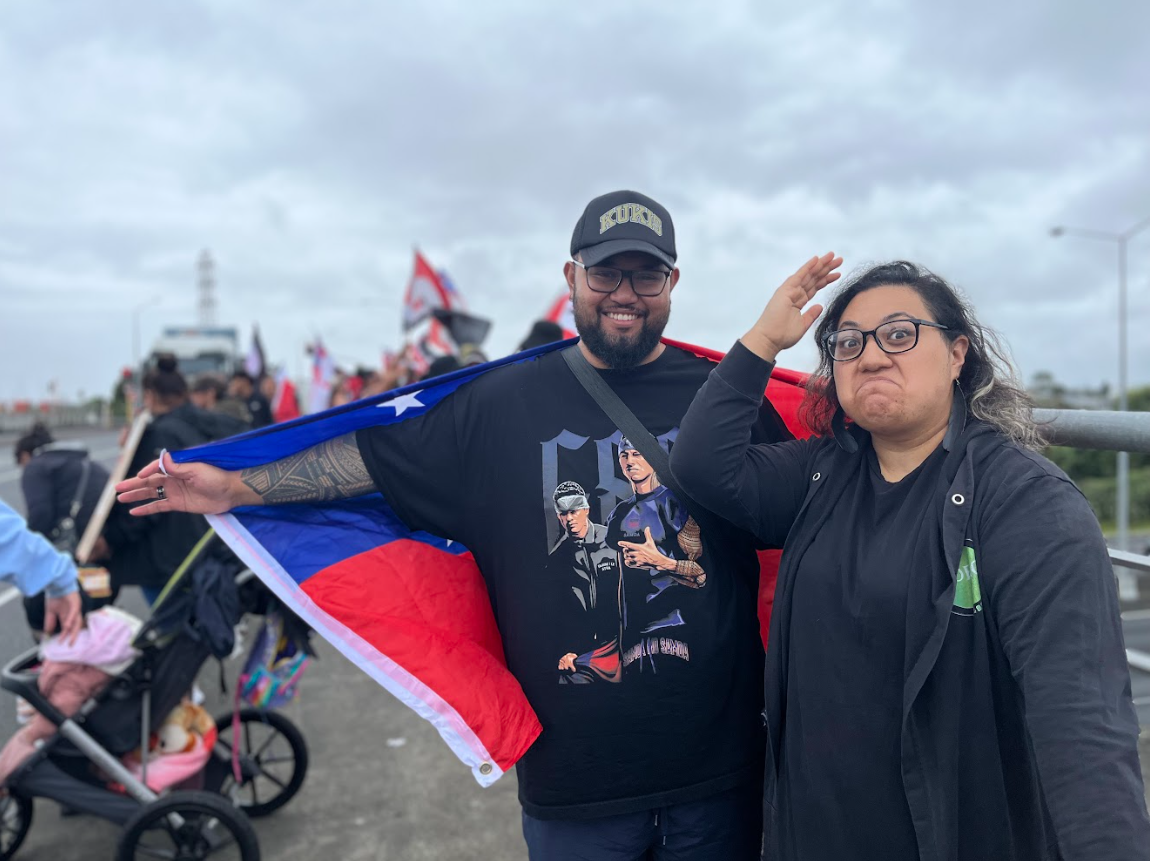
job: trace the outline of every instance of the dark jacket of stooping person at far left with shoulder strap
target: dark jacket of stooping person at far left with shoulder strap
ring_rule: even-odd
[[[90,463],[87,484],[76,515],[76,533],[80,536],[95,510],[103,485],[108,483],[108,470],[90,461],[87,448],[80,445],[52,443],[32,453],[21,477],[30,530],[48,536],[68,516],[79,490],[85,461]]]

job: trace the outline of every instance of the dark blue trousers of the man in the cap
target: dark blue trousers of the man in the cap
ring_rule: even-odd
[[[762,790],[751,783],[702,801],[595,820],[523,814],[531,861],[758,861]]]

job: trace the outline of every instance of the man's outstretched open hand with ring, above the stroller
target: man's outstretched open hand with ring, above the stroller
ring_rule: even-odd
[[[263,500],[239,479],[238,472],[207,463],[176,463],[164,452],[160,461],[148,463],[135,478],[116,485],[121,502],[146,502],[131,509],[137,517],[164,512],[223,514],[237,506],[260,505]],[[167,472],[167,475],[164,475]]]

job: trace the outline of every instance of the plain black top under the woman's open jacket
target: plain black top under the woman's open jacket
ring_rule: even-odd
[[[815,861],[917,859],[899,748],[906,591],[943,449],[900,482],[867,469],[798,562],[791,604],[780,844]]]

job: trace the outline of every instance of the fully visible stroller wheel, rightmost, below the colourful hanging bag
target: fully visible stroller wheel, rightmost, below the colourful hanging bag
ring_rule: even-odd
[[[232,737],[231,715],[216,721],[215,755],[227,761],[220,787],[248,816],[267,816],[294,798],[307,775],[307,743],[291,721],[277,712],[239,712],[239,738]],[[232,775],[232,746],[239,754],[240,784]]]

